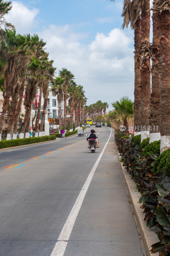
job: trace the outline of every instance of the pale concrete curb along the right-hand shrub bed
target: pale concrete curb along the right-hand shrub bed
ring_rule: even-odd
[[[140,198],[140,193],[137,191],[136,184],[134,180],[131,179],[129,172],[127,172],[127,170],[123,166],[123,163],[120,162],[119,155],[118,155],[118,159],[121,166],[122,176],[128,191],[128,196],[130,198],[130,203],[131,203],[133,212],[135,214],[140,235],[142,237],[142,242],[144,244],[145,252],[147,256],[152,256],[153,254],[150,252],[151,245],[159,242],[158,236],[155,233],[157,229],[155,227],[151,229],[146,227],[146,222],[144,221],[145,214],[143,213],[143,209],[140,208],[141,205],[138,203]],[[159,256],[159,252],[154,253],[154,255]]]

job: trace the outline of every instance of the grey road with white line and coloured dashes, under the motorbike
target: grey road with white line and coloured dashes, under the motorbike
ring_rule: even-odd
[[[85,135],[0,151],[0,256],[143,255],[113,130],[95,130],[94,154]]]

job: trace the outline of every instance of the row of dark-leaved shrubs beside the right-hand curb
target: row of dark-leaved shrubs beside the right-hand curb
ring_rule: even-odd
[[[136,137],[136,138],[135,138]],[[160,156],[160,141],[139,143],[139,135],[129,145],[115,136],[123,166],[129,171],[141,193],[139,203],[144,210],[146,226],[157,226],[160,242],[152,244],[152,253],[169,256],[170,247],[170,149]],[[140,144],[140,148],[138,145]],[[158,156],[158,157],[157,157]]]

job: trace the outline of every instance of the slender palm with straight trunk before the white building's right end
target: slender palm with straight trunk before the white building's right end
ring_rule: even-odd
[[[61,102],[63,99],[63,84],[65,79],[61,76],[55,77],[54,84],[52,85],[50,92],[52,95],[57,95],[57,101],[59,102],[59,131],[62,129],[62,118],[61,118]]]

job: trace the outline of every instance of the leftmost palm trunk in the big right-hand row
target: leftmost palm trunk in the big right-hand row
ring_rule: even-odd
[[[140,15],[136,21],[136,30],[134,31],[135,41],[135,88],[134,88],[134,136],[140,134],[141,129],[141,71],[140,59],[137,56],[141,44],[141,18]],[[137,128],[139,127],[139,128]]]

